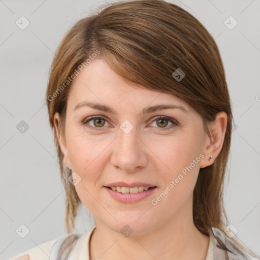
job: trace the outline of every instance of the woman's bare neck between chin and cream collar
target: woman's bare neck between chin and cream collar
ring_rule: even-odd
[[[205,260],[207,255],[209,237],[194,226],[192,212],[184,219],[173,217],[149,233],[133,233],[129,237],[124,237],[97,219],[95,224],[90,238],[90,260]]]

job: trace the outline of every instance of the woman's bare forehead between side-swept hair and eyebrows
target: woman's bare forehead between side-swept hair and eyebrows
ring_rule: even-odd
[[[68,107],[74,109],[83,101],[103,103],[109,106],[140,107],[156,104],[181,105],[187,111],[192,108],[175,95],[146,89],[125,81],[103,59],[93,60],[73,80]]]

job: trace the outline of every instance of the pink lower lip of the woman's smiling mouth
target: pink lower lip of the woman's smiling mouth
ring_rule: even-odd
[[[138,193],[121,193],[114,191],[110,188],[104,187],[110,195],[117,201],[123,202],[123,203],[135,203],[143,200],[144,198],[150,196],[157,187],[153,187],[147,190],[144,190],[142,192]]]

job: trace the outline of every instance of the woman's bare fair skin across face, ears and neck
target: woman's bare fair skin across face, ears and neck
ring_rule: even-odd
[[[186,102],[174,95],[129,84],[102,59],[92,61],[71,87],[65,136],[59,130],[58,113],[54,122],[63,162],[81,177],[75,188],[94,216],[96,229],[90,239],[89,259],[204,259],[209,238],[193,224],[192,191],[200,168],[213,164],[221,151],[226,114],[216,115],[209,124],[211,137],[208,137],[201,116]],[[82,101],[107,105],[118,116],[87,106],[74,111]],[[143,108],[157,104],[181,105],[187,113],[164,109],[140,114]],[[90,116],[106,119],[86,123],[98,131],[84,125]],[[156,120],[156,116],[170,117],[178,124]],[[120,128],[125,120],[134,127],[127,134]],[[152,205],[151,200],[199,154],[204,158],[163,200]],[[157,189],[140,202],[121,203],[103,187],[114,181],[146,182]],[[125,224],[133,230],[129,237],[120,232]]]

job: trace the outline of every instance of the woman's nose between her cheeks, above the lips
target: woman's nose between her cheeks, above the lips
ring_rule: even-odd
[[[147,166],[148,150],[134,127],[129,133],[120,128],[111,155],[111,164],[125,172],[134,173]]]

